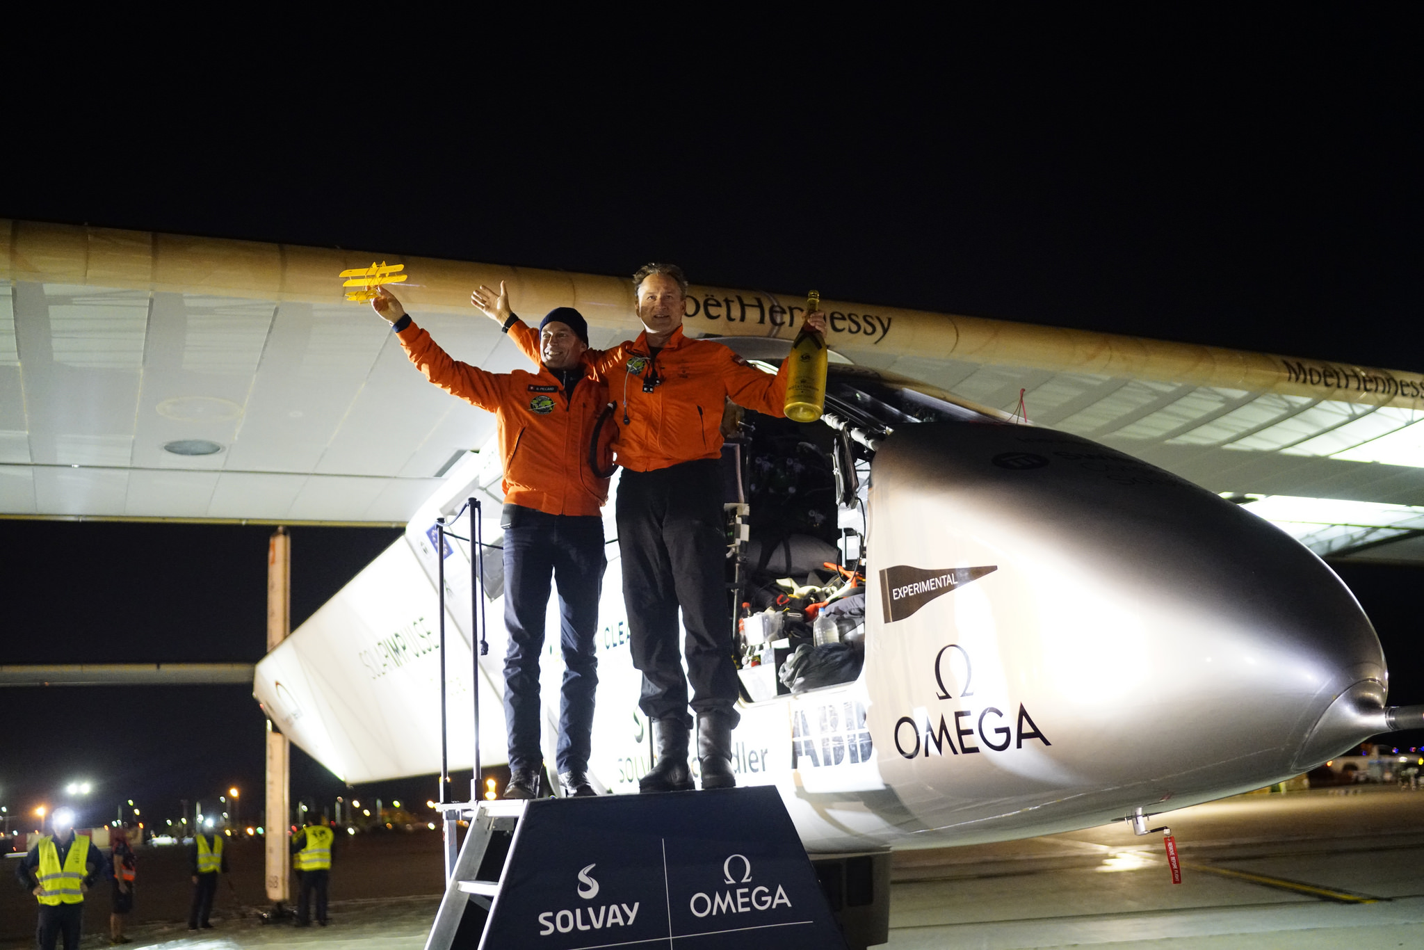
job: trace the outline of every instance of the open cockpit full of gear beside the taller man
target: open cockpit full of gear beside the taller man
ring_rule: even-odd
[[[870,464],[897,426],[918,422],[1001,420],[852,366],[832,367],[815,423],[728,403],[728,588],[743,699],[860,675]]]

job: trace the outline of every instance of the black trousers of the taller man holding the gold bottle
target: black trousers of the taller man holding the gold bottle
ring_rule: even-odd
[[[652,719],[691,728],[691,705],[740,718],[732,615],[726,594],[728,538],[722,526],[722,474],[716,459],[684,461],[618,477],[618,550],[628,608],[632,665],[642,671],[638,706]],[[678,608],[686,628],[682,672]]]

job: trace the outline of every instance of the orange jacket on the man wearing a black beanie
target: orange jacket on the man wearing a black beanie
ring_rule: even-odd
[[[412,323],[396,335],[410,362],[451,396],[493,412],[500,426],[504,500],[548,514],[598,514],[608,500],[608,479],[588,467],[588,443],[607,387],[584,376],[564,395],[558,379],[540,363],[537,373],[490,373],[450,359],[430,335]],[[612,426],[605,424],[605,430]],[[598,464],[608,467],[611,433],[604,434]]]

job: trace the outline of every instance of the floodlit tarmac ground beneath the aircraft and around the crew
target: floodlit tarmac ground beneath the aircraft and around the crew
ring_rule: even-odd
[[[893,950],[1152,947],[1270,950],[1424,947],[1424,792],[1250,795],[1163,816],[1162,836],[1122,823],[1000,845],[901,852]],[[238,842],[215,929],[192,934],[181,849],[141,856],[132,947],[406,950],[424,946],[440,890],[434,833],[357,836],[336,856],[332,926],[261,919],[261,849]],[[167,852],[167,853],[164,853]],[[13,865],[3,865],[13,875]],[[33,946],[34,903],[0,882],[0,950]],[[107,893],[90,899],[84,947],[107,939]]]

